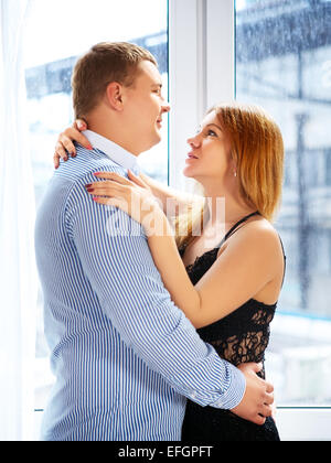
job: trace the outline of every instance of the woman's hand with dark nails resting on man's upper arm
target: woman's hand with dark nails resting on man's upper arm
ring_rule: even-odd
[[[159,200],[139,176],[129,171],[130,180],[116,172],[94,174],[105,182],[85,185],[98,204],[116,206],[140,223],[147,235],[163,234],[167,220]]]

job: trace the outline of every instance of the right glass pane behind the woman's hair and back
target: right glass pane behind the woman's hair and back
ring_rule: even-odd
[[[331,403],[330,23],[329,1],[237,1],[236,98],[268,110],[286,144],[287,274],[267,357],[279,405]]]

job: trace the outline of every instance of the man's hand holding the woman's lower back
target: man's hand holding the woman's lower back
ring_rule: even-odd
[[[274,386],[256,375],[261,370],[261,364],[242,364],[238,368],[246,378],[246,391],[232,412],[256,424],[264,424],[266,418],[273,414]]]

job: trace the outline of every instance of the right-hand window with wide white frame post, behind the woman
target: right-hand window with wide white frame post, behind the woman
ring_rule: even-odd
[[[194,133],[206,109],[215,103],[237,98],[259,104],[284,132],[284,203],[275,225],[286,247],[288,269],[271,324],[266,372],[276,388],[281,439],[330,440],[331,2],[169,3],[170,75],[175,75],[175,79],[170,79],[170,184],[188,186],[179,169],[186,152],[184,140]],[[306,46],[299,61],[293,46],[298,46],[300,37]],[[309,118],[300,117],[302,114]],[[303,207],[298,192],[299,143],[303,143],[305,158],[300,161],[303,160],[305,183],[300,187],[306,195],[303,204],[308,203],[303,213],[308,228],[302,227],[299,216]],[[302,243],[309,243],[303,252],[299,248]],[[308,280],[303,279],[305,268]]]

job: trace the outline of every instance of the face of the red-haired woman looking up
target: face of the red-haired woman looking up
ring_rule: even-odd
[[[216,180],[220,185],[224,185],[227,179],[234,179],[236,169],[231,157],[231,146],[215,111],[203,119],[199,132],[188,143],[191,150],[183,170],[185,176],[202,184]]]

